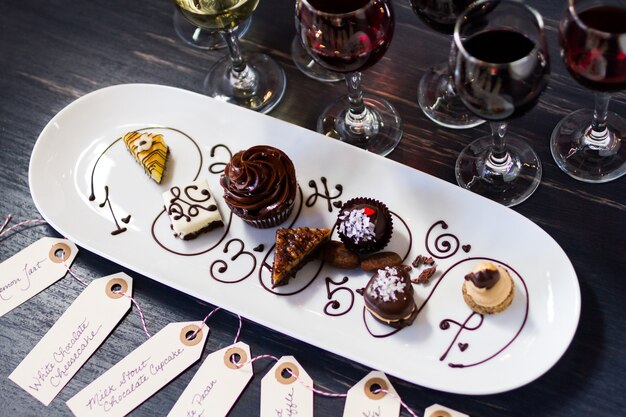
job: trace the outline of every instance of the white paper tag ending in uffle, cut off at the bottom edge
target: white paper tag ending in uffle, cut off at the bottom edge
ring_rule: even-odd
[[[313,380],[283,356],[261,380],[261,417],[313,417]]]

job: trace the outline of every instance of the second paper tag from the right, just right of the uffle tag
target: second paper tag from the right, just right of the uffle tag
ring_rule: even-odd
[[[382,372],[370,372],[348,390],[343,417],[398,417],[399,415],[400,397]]]

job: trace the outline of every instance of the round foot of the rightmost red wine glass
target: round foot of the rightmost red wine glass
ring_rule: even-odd
[[[608,135],[599,144],[588,140],[592,119],[590,109],[565,116],[552,132],[552,157],[563,172],[579,181],[612,181],[626,174],[626,120],[609,112]]]

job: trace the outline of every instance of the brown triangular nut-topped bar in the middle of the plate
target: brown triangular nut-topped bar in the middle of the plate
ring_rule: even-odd
[[[284,285],[290,276],[295,275],[330,239],[330,229],[276,230],[274,249],[274,267],[272,268],[272,287]]]

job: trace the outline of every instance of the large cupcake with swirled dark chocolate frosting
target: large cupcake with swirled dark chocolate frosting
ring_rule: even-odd
[[[296,171],[280,149],[259,145],[237,152],[220,178],[224,200],[246,223],[273,227],[284,222],[296,201]]]

